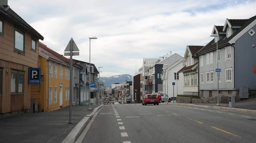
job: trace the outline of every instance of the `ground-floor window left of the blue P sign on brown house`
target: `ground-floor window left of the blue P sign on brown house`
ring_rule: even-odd
[[[20,70],[12,70],[11,72],[11,93],[24,93],[24,72]]]

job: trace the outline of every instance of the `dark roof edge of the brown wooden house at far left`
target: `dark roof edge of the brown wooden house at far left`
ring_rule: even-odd
[[[6,10],[7,9],[7,10]],[[16,14],[9,6],[0,6],[0,15],[8,17],[15,22],[21,30],[29,31],[29,33],[38,39],[44,40],[44,37],[38,33],[32,26],[30,26],[25,20],[23,20],[18,14]]]

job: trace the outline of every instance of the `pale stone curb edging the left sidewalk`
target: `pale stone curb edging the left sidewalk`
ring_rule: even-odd
[[[67,137],[62,140],[61,143],[74,143],[76,139],[79,137],[81,132],[83,131],[84,127],[87,125],[87,123],[90,121],[90,119],[93,117],[93,115],[103,107],[103,105],[100,105],[99,107],[96,107],[93,109],[93,112],[91,112],[89,115],[86,115],[77,125],[71,130],[71,132],[67,135]]]

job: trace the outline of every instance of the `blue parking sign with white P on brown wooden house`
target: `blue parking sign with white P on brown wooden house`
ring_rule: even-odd
[[[41,83],[41,68],[29,68],[29,84]]]

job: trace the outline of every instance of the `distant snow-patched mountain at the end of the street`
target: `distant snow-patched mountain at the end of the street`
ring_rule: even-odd
[[[129,74],[123,74],[118,76],[111,76],[111,77],[99,77],[100,81],[105,81],[105,86],[111,87],[113,83],[121,83],[122,81],[132,81],[133,76]]]

